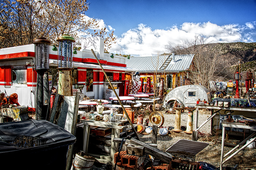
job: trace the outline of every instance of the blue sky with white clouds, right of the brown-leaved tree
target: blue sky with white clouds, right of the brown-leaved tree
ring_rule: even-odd
[[[203,34],[209,41],[256,42],[256,0],[87,0],[86,15],[114,30],[109,52],[151,56]]]

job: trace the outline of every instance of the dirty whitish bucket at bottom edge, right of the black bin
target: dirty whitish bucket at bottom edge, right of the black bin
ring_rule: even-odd
[[[88,159],[85,156],[81,156],[80,153],[75,155],[74,162],[72,163],[71,170],[91,170],[95,159]]]

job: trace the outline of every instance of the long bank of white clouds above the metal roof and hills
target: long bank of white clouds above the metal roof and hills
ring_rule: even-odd
[[[246,23],[247,29],[254,29],[255,22]],[[112,44],[110,52],[122,52],[133,56],[151,56],[158,52],[165,52],[165,45],[168,41],[180,43],[183,40],[191,40],[195,35],[205,35],[208,40],[217,42],[253,41],[252,33],[243,33],[245,26],[238,24],[228,24],[219,26],[210,22],[207,23],[183,23],[180,28],[173,27],[163,30],[152,30],[144,24],[139,24],[137,28],[130,29],[117,37],[117,43]],[[254,35],[253,35],[254,36]]]

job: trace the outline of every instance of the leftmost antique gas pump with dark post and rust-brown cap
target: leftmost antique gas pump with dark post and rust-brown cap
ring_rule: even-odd
[[[36,116],[37,119],[46,119],[49,104],[49,45],[50,41],[40,37],[35,44],[35,70],[37,71]]]

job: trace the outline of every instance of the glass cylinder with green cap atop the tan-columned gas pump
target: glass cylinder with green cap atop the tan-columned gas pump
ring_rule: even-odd
[[[57,41],[59,42],[58,68],[72,68],[72,50],[75,39],[64,34],[59,36]]]

